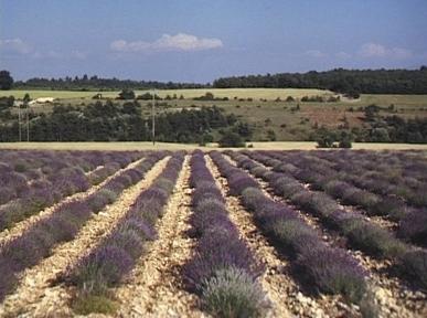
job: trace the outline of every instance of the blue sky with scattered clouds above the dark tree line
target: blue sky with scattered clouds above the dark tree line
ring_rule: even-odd
[[[211,82],[427,64],[426,0],[0,0],[15,80]]]

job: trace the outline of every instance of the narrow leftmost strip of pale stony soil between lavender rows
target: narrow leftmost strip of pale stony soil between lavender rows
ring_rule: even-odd
[[[122,173],[125,170],[128,170],[128,169],[131,169],[131,168],[138,166],[142,160],[145,160],[145,159],[142,158],[142,159],[139,159],[137,161],[129,163],[126,168],[118,170],[116,173],[114,173],[114,174],[109,176],[107,179],[105,179],[102,183],[89,188],[87,191],[78,192],[78,193],[75,193],[73,195],[70,195],[70,197],[65,198],[64,200],[62,200],[61,202],[40,211],[38,214],[34,214],[34,215],[14,224],[12,229],[4,230],[3,232],[0,233],[0,246],[8,241],[11,241],[18,236],[21,236],[22,233],[24,233],[26,230],[29,230],[31,226],[33,226],[39,221],[47,219],[49,216],[51,216],[52,213],[55,212],[61,205],[63,205],[67,202],[71,202],[71,201],[82,200],[82,199],[93,194],[94,192],[99,190],[102,187],[104,187],[104,184],[107,183],[109,180],[111,180],[113,178]]]

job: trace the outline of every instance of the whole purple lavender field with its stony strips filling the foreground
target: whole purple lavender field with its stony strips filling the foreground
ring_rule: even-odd
[[[0,317],[426,317],[423,151],[0,151]]]

